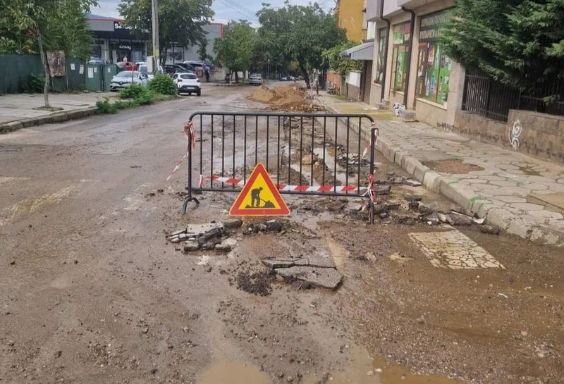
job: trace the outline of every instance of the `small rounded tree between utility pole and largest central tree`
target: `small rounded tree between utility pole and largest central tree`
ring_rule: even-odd
[[[246,20],[230,21],[223,32],[223,39],[216,39],[216,61],[225,63],[235,72],[235,82],[239,81],[238,71],[250,70],[257,41],[255,28]]]

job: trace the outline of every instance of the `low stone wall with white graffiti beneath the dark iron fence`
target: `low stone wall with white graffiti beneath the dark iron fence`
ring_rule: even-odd
[[[508,123],[457,111],[454,131],[474,140],[513,148],[529,156],[564,163],[564,116],[511,110]]]

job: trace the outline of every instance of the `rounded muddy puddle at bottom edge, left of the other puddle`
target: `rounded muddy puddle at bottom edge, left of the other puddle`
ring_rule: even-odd
[[[202,374],[198,384],[270,384],[272,380],[259,368],[250,365],[216,364]]]

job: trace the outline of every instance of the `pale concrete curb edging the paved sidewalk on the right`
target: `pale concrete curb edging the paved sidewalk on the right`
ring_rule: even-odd
[[[321,106],[324,106],[331,113],[340,113],[330,105],[324,104],[318,100]],[[342,120],[346,124],[346,120]],[[351,122],[351,128],[358,132],[362,130],[361,135],[364,140],[370,137],[369,128],[359,127],[357,123]],[[427,189],[448,197],[462,208],[467,209],[471,213],[475,213],[479,218],[485,218],[489,225],[499,228],[510,235],[517,235],[525,240],[530,240],[539,244],[553,244],[558,246],[564,245],[564,233],[544,225],[528,223],[519,216],[498,208],[493,202],[482,199],[473,191],[467,190],[458,185],[457,180],[451,180],[439,173],[431,171],[430,168],[424,166],[415,157],[403,151],[400,147],[394,147],[386,142],[382,137],[378,138],[376,149],[384,155],[388,161],[398,164],[405,169],[413,178],[422,182]]]

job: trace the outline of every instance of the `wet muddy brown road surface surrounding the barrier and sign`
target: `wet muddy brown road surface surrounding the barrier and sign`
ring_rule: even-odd
[[[181,214],[183,123],[269,107],[254,90],[0,136],[0,383],[564,382],[563,250],[434,223],[422,207],[450,202],[381,157],[375,225],[358,199],[291,196],[288,218],[222,229],[228,249],[172,242],[236,196]]]

